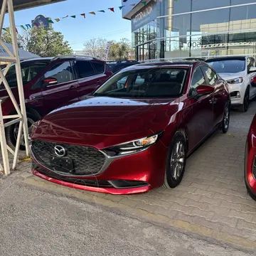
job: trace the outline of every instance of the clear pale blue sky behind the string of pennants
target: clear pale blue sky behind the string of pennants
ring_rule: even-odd
[[[131,22],[122,18],[122,11],[118,6],[122,0],[67,0],[56,4],[48,4],[32,9],[15,12],[16,26],[31,23],[39,14],[52,18],[55,31],[63,33],[65,40],[70,43],[73,50],[82,50],[83,44],[90,38],[107,38],[118,41],[120,38],[131,40]],[[108,8],[114,7],[114,13]],[[98,12],[106,10],[105,13]],[[86,14],[86,18],[80,14],[95,11],[96,15]],[[76,15],[76,18],[64,18],[67,15]],[[60,18],[55,22],[54,18]],[[8,18],[4,26],[9,26]],[[21,32],[21,29],[18,28]]]

